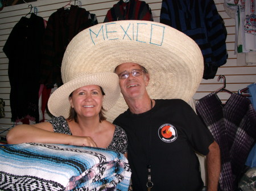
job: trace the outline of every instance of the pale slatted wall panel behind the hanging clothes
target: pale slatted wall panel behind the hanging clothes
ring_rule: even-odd
[[[160,9],[162,5],[161,0],[144,0],[150,6],[152,15],[155,22],[159,22]],[[38,16],[42,16],[48,20],[49,16],[62,6],[67,5],[69,1],[62,0],[41,0],[32,2],[31,5],[38,9]],[[92,14],[96,14],[99,23],[104,21],[106,12],[113,7],[118,1],[106,1],[106,0],[82,0],[82,8],[90,11]],[[256,82],[256,65],[237,66],[237,56],[234,54],[234,40],[235,40],[235,21],[230,18],[223,7],[224,0],[214,0],[217,6],[217,10],[224,19],[226,29],[228,31],[228,37],[226,39],[226,45],[228,49],[228,62],[221,66],[217,75],[214,79],[203,79],[200,87],[198,88],[194,99],[198,100],[204,97],[210,92],[217,90],[222,86],[222,82],[217,82],[218,75],[225,75],[226,77],[226,89],[237,92],[239,89],[246,87],[251,83]],[[72,2],[74,3],[74,2]],[[6,132],[1,134],[1,130],[6,129],[14,124],[11,122],[11,111],[10,111],[10,83],[8,78],[8,58],[3,53],[3,45],[9,36],[9,33],[20,20],[22,16],[25,16],[30,11],[28,4],[15,5],[4,7],[0,11],[0,98],[3,98],[6,103],[5,107],[5,118],[0,118],[0,136],[5,136]],[[53,88],[52,92],[56,90]],[[218,96],[222,101],[226,101],[229,94],[219,93]],[[46,118],[49,118],[46,113]]]

